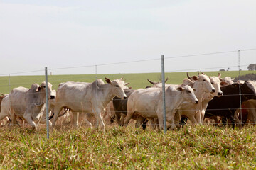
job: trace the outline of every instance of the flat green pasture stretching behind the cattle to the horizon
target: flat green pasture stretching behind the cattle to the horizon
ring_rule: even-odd
[[[218,72],[204,72],[208,76],[217,76]],[[238,71],[223,71],[220,72],[222,77],[238,77]],[[240,75],[247,73],[255,73],[255,71],[241,71]],[[198,72],[189,72],[189,75],[197,75]],[[95,79],[103,79],[107,77],[109,79],[119,79],[124,77],[126,82],[129,82],[129,86],[132,89],[145,88],[149,86],[149,82],[146,79],[152,81],[160,81],[161,73],[136,73],[136,74],[75,74],[75,75],[49,75],[48,81],[53,84],[53,89],[57,89],[58,84],[65,81],[85,81],[92,82]],[[169,84],[181,84],[183,79],[186,78],[186,72],[166,72],[165,77],[169,77]],[[33,83],[41,84],[45,81],[45,76],[11,76],[0,77],[0,92],[3,94],[9,94],[11,89],[18,86],[30,87]]]

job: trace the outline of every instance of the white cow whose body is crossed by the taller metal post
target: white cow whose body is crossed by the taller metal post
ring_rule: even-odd
[[[182,103],[198,103],[193,89],[190,86],[166,87],[166,121],[175,128],[174,114]],[[127,101],[127,116],[124,124],[127,126],[134,114],[141,115],[149,120],[158,118],[159,128],[163,128],[163,101],[161,88],[138,89],[134,91]]]

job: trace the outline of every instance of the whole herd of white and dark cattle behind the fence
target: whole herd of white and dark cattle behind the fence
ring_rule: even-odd
[[[117,123],[127,126],[164,128],[161,82],[149,81],[145,89],[131,89],[123,79],[97,79],[92,83],[68,81],[58,89],[42,82],[31,88],[17,87],[1,94],[1,126],[31,125],[33,130],[46,123],[46,88],[49,125],[71,124],[99,127]],[[166,79],[167,81],[167,79]],[[208,77],[206,74],[183,79],[181,84],[165,84],[166,122],[175,129],[183,118],[187,123],[242,124],[256,123],[256,81],[233,82],[230,77]],[[242,105],[240,105],[242,103]]]

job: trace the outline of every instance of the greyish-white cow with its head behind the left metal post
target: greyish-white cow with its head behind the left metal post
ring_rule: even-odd
[[[48,99],[53,99],[52,84],[48,83]],[[46,82],[41,86],[32,84],[31,88],[17,87],[9,94],[11,108],[11,124],[16,123],[16,117],[26,120],[33,129],[36,129],[43,116],[46,103]]]

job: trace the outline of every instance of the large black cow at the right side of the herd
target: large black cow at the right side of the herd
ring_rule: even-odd
[[[227,120],[230,120],[232,123],[237,122],[234,118],[234,113],[236,109],[240,108],[239,86],[241,86],[241,102],[256,99],[255,92],[248,81],[245,81],[244,84],[234,83],[223,86],[220,88],[223,91],[223,96],[215,96],[208,103],[204,118],[220,116],[223,123],[227,123]]]

